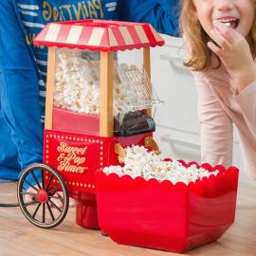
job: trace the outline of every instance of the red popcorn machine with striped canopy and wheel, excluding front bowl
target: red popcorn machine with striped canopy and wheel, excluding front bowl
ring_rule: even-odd
[[[84,20],[50,23],[34,43],[48,46],[45,164],[22,174],[21,209],[32,224],[53,228],[64,220],[71,196],[77,224],[98,229],[95,172],[119,164],[128,145],[159,152],[152,137],[151,108],[160,101],[150,82],[150,47],[164,41],[149,24]],[[143,49],[141,68],[118,64],[117,51],[136,48]]]

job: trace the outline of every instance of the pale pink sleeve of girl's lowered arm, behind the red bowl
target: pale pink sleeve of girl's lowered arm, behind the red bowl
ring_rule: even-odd
[[[212,93],[210,84],[196,79],[197,114],[200,122],[201,162],[232,164],[232,121]]]

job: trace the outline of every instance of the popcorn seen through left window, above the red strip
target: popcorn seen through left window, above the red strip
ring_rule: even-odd
[[[60,48],[57,53],[54,106],[99,115],[100,52]]]

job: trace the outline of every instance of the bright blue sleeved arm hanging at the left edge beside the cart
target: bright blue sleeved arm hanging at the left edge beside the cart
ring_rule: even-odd
[[[0,9],[0,178],[17,179],[42,161],[38,73],[12,1],[1,0]]]

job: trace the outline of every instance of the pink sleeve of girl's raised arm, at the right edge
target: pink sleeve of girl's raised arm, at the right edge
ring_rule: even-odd
[[[235,100],[243,112],[248,129],[256,138],[256,81],[250,83],[246,89],[237,94]]]

